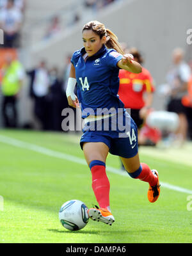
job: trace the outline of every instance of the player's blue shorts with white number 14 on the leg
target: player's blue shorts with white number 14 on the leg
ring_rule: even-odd
[[[138,128],[131,118],[131,125],[127,136],[120,138],[116,131],[85,131],[81,137],[80,145],[84,142],[103,142],[109,147],[109,153],[130,158],[138,154]]]

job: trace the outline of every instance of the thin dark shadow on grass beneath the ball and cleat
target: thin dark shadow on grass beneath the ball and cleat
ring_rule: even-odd
[[[72,231],[72,230],[60,230],[60,229],[47,229],[50,232],[54,233],[61,233],[61,234],[67,234],[67,233],[75,233],[75,234],[109,234],[109,230],[77,230],[77,231]],[[141,232],[152,232],[152,230],[113,230],[113,234],[139,234]]]

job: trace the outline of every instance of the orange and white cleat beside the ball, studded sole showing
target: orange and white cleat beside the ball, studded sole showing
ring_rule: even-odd
[[[97,205],[95,205],[95,208],[88,209],[88,216],[90,216],[90,218],[94,221],[101,221],[110,226],[115,221],[115,218],[113,217],[111,212],[104,208],[99,209]]]

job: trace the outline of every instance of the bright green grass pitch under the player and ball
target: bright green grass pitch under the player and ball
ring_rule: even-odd
[[[190,143],[173,150],[140,148],[141,161],[158,170],[160,181],[188,189],[162,186],[154,204],[147,199],[148,184],[122,175],[118,157],[109,155],[107,166],[119,169],[108,171],[115,223],[89,220],[71,232],[58,219],[61,205],[71,199],[97,204],[79,136],[1,130],[0,243],[191,243],[191,149]]]

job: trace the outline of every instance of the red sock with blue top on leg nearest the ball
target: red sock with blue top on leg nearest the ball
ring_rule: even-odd
[[[90,169],[92,171],[92,188],[99,207],[109,209],[110,184],[106,175],[105,163],[102,161],[92,161],[90,163]]]

